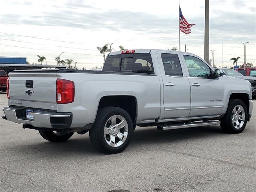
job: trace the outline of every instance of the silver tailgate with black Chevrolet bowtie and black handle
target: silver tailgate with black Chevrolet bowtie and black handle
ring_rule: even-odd
[[[56,72],[13,72],[9,106],[57,110]]]

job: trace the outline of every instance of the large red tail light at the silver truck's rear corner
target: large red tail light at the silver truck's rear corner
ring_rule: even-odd
[[[74,102],[75,84],[73,81],[65,79],[56,80],[57,104],[67,104]]]

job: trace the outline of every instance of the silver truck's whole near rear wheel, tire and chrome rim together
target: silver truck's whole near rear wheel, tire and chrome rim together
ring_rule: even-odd
[[[132,119],[125,110],[119,107],[105,107],[98,111],[90,130],[90,140],[101,152],[120,153],[128,146],[132,131]]]

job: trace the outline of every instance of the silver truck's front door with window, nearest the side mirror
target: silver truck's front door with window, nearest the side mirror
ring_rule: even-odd
[[[224,106],[224,84],[220,78],[212,79],[214,72],[200,58],[182,54],[188,70],[191,87],[189,116],[220,115]]]

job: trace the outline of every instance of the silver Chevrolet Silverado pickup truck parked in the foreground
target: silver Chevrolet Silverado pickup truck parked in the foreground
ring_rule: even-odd
[[[108,54],[102,71],[16,70],[9,76],[2,118],[52,142],[89,131],[95,148],[109,154],[128,146],[136,125],[220,124],[224,132],[240,133],[253,106],[247,80],[222,76],[188,52],[125,50]]]

